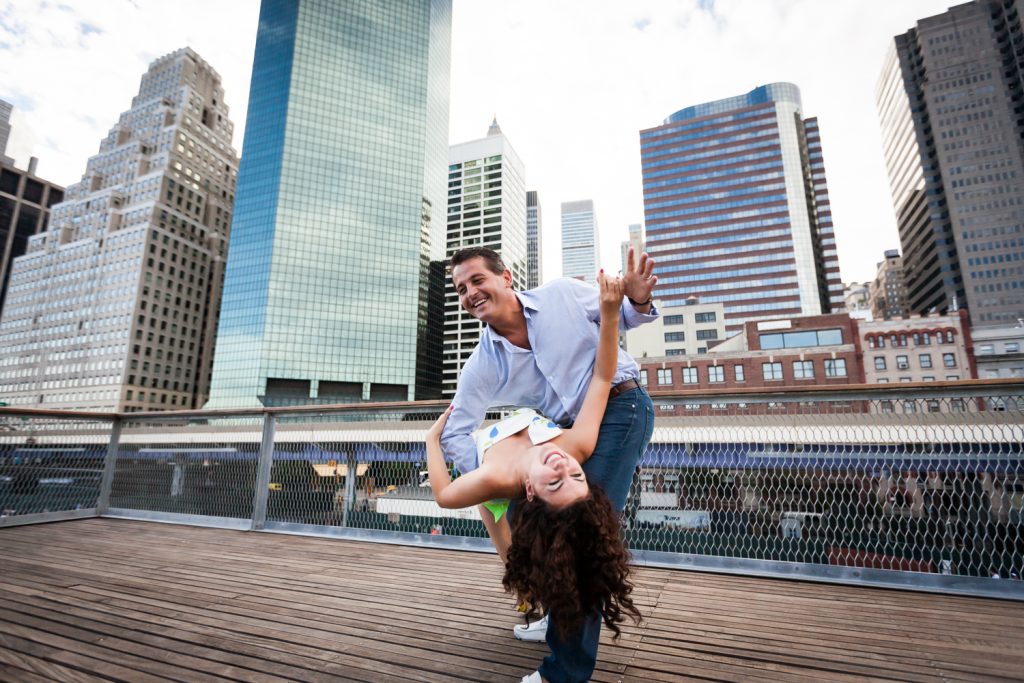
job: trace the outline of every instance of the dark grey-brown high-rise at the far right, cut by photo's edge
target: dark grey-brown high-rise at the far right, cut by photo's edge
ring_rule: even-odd
[[[1024,27],[979,0],[896,36],[876,98],[912,312],[1024,316]]]

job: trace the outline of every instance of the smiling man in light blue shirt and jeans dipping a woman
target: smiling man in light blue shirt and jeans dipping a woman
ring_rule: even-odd
[[[654,261],[631,248],[624,273],[626,296],[621,325],[635,328],[657,317],[651,292],[657,282]],[[452,415],[441,435],[445,454],[460,471],[476,467],[471,432],[492,405],[535,408],[563,427],[571,425],[592,375],[598,338],[598,291],[562,279],[526,292],[512,289],[512,273],[493,250],[474,247],[452,257],[452,283],[470,315],[486,324],[480,342],[459,380]],[[653,429],[653,405],[637,381],[639,368],[620,349],[618,367],[601,422],[597,446],[584,464],[587,478],[599,484],[620,513],[626,505],[633,472]],[[508,522],[481,517],[504,559]],[[539,628],[516,627],[516,637],[540,640]],[[535,625],[530,625],[534,627]],[[595,613],[580,632],[559,639],[546,634],[551,654],[524,681],[577,683],[590,679],[597,661],[601,621]],[[542,678],[543,677],[543,678]]]

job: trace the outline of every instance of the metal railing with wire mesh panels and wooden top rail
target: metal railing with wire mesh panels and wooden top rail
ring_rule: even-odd
[[[1024,598],[1024,383],[652,397],[623,518],[638,563]],[[0,526],[109,515],[485,551],[475,509],[427,484],[441,407],[0,409]]]

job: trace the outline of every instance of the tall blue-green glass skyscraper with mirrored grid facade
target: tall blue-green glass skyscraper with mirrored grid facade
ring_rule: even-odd
[[[263,0],[210,408],[439,397],[451,0]]]

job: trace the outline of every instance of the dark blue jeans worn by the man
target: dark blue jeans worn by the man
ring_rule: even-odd
[[[616,512],[622,513],[633,473],[654,429],[654,405],[643,389],[633,389],[608,401],[597,437],[597,447],[583,469],[587,478],[604,489]],[[577,633],[564,640],[548,629],[551,654],[541,665],[541,676],[550,683],[589,681],[597,664],[601,616],[594,612]]]

